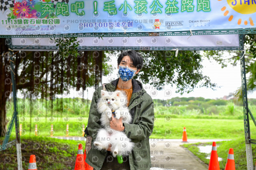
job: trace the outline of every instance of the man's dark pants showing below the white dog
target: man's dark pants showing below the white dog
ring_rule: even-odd
[[[117,158],[114,158],[112,153],[108,151],[100,170],[130,170],[129,156],[123,156],[123,161],[122,164],[119,164]]]

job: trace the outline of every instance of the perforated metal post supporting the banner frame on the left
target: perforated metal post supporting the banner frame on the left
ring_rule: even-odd
[[[9,46],[10,47],[10,46]],[[12,76],[12,94],[13,94],[13,103],[14,103],[14,119],[15,119],[15,130],[16,130],[16,150],[17,150],[17,162],[18,170],[22,170],[22,156],[21,156],[21,146],[20,146],[20,130],[19,130],[19,117],[18,117],[18,105],[16,98],[16,79],[14,73],[14,60],[13,50],[9,48],[10,55],[10,65],[11,65],[11,76]],[[16,66],[17,67],[17,66]],[[12,95],[11,94],[11,95]]]

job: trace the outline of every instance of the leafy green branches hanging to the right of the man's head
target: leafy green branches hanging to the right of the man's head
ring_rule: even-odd
[[[175,57],[175,51],[138,51],[144,58],[140,74],[134,79],[140,79],[143,83],[150,83],[156,89],[162,89],[163,85],[176,85],[176,93],[191,92],[196,87],[217,87],[211,83],[210,78],[202,74],[202,56],[198,51],[179,51]],[[120,51],[109,51],[118,55]],[[152,81],[151,81],[152,80]]]

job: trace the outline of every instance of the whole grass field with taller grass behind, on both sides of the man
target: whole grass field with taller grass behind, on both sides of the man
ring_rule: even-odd
[[[22,124],[21,140],[28,146],[22,151],[22,156],[25,156],[26,161],[30,155],[30,152],[35,151],[43,159],[42,163],[38,165],[40,169],[43,164],[47,163],[51,153],[56,156],[56,165],[72,169],[74,167],[74,161],[77,151],[78,141],[68,141],[69,148],[63,149],[64,140],[52,141],[56,147],[48,147],[51,140],[50,129],[51,124],[54,125],[54,136],[65,136],[66,125],[69,125],[68,136],[82,136],[82,125],[87,125],[88,121],[88,108],[89,105],[82,105],[78,100],[67,101],[64,103],[70,103],[70,105],[64,105],[63,113],[61,112],[60,105],[55,101],[55,109],[53,112],[48,112],[45,115],[46,107],[44,104],[34,105],[34,110],[30,114],[30,104],[25,102],[25,105],[18,103],[19,121]],[[181,102],[182,103],[182,102]],[[193,103],[193,102],[190,102]],[[190,105],[189,102],[186,105],[174,105],[166,107],[159,103],[156,103],[154,107],[155,119],[154,130],[150,138],[172,138],[182,139],[183,127],[186,127],[188,140],[189,139],[232,139],[231,141],[217,142],[218,155],[223,158],[220,161],[220,167],[224,170],[226,164],[226,158],[229,147],[234,147],[235,162],[237,170],[244,170],[246,168],[246,154],[245,154],[245,142],[244,142],[244,115],[243,107],[228,103],[227,105],[206,105],[207,103],[201,103],[200,107]],[[35,107],[36,106],[36,107]],[[37,109],[36,109],[37,108]],[[39,109],[38,109],[39,108]],[[81,109],[82,108],[82,109]],[[252,111],[254,117],[256,117],[256,105],[250,105],[249,109]],[[10,107],[7,111],[7,119],[9,121],[12,117],[13,108]],[[35,125],[38,126],[38,136],[34,134]],[[254,123],[250,121],[251,137],[256,138],[256,127]],[[15,130],[12,130],[11,138],[14,138]],[[0,140],[3,138],[0,138]],[[42,140],[41,140],[42,139]],[[40,143],[40,150],[34,150],[33,143]],[[47,143],[48,142],[48,143]],[[0,142],[2,143],[2,142]],[[208,143],[207,145],[211,145]],[[197,146],[205,144],[185,144],[196,156],[201,160],[209,163],[206,159],[207,154],[200,153]],[[256,149],[252,145],[253,150]],[[12,167],[16,167],[15,147],[10,148],[7,151],[1,152],[6,156],[10,156]],[[58,156],[62,155],[62,157]],[[256,155],[256,152],[253,153]],[[69,162],[63,162],[63,156],[70,158]],[[0,169],[5,168],[6,164],[3,159],[0,159]],[[65,158],[66,158],[65,157]],[[0,156],[1,158],[1,156]],[[255,157],[254,157],[255,158]],[[62,159],[62,160],[61,160]],[[2,162],[1,162],[2,160]],[[24,166],[28,162],[24,162]],[[9,164],[9,165],[10,165]],[[55,166],[53,163],[49,163],[50,166]],[[58,168],[57,168],[58,169]]]

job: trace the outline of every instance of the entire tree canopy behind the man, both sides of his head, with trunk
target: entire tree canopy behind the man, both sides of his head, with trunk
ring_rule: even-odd
[[[3,43],[5,39],[1,39]],[[76,91],[82,87],[85,90],[94,86],[97,88],[103,75],[108,75],[111,65],[107,65],[108,54],[117,55],[121,51],[78,51],[76,38],[55,39],[58,51],[15,51],[14,73],[16,76],[16,89],[22,90],[24,97],[32,99],[50,99],[52,102],[57,94],[69,93],[69,89],[76,87]],[[1,46],[3,47],[3,45]],[[6,131],[4,106],[10,95],[9,84],[2,82],[10,77],[8,48],[1,49],[1,115],[0,136]],[[174,51],[138,51],[144,58],[142,72],[134,77],[144,83],[150,83],[157,89],[162,89],[166,84],[177,85],[181,94],[189,93],[196,87],[216,87],[209,77],[202,75],[201,56],[198,51],[180,51],[175,57]],[[152,81],[151,81],[152,80]],[[7,95],[6,95],[7,94]],[[58,100],[57,100],[58,101]],[[46,104],[47,106],[47,100]],[[62,98],[60,100],[62,105]],[[61,107],[62,108],[62,107]],[[47,111],[46,111],[47,112]]]

